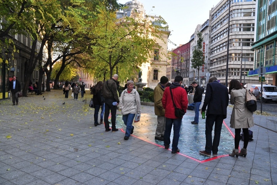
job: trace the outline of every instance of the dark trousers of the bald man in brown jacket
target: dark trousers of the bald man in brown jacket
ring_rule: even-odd
[[[111,110],[111,128],[116,129],[116,108],[117,106],[113,105],[115,99],[105,99],[105,113],[104,113],[104,123],[105,128],[109,129],[109,115]]]

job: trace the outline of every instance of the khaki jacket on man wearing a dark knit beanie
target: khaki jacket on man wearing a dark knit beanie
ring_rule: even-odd
[[[154,110],[155,110],[155,115],[157,116],[164,116],[165,114],[163,104],[161,103],[161,99],[163,99],[163,95],[164,95],[164,88],[159,83],[154,88]]]

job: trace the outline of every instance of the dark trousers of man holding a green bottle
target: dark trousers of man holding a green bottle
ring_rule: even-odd
[[[206,117],[206,146],[207,153],[217,153],[220,142],[220,134],[224,115],[208,114]],[[214,125],[215,124],[215,125]],[[214,140],[212,141],[212,130],[214,126]]]

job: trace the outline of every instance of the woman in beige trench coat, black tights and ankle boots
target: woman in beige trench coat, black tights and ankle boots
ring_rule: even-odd
[[[246,157],[247,145],[249,141],[248,128],[254,126],[253,113],[246,108],[246,88],[239,81],[233,79],[229,84],[230,103],[234,105],[230,127],[235,128],[235,148],[230,156],[238,157],[239,155]],[[239,152],[240,132],[244,133],[243,148]]]

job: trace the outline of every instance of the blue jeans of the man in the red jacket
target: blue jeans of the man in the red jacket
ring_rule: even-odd
[[[170,144],[170,134],[171,134],[171,128],[173,125],[172,151],[176,151],[178,149],[181,124],[182,124],[182,118],[177,118],[177,119],[166,118],[166,130],[164,131],[164,146]]]

